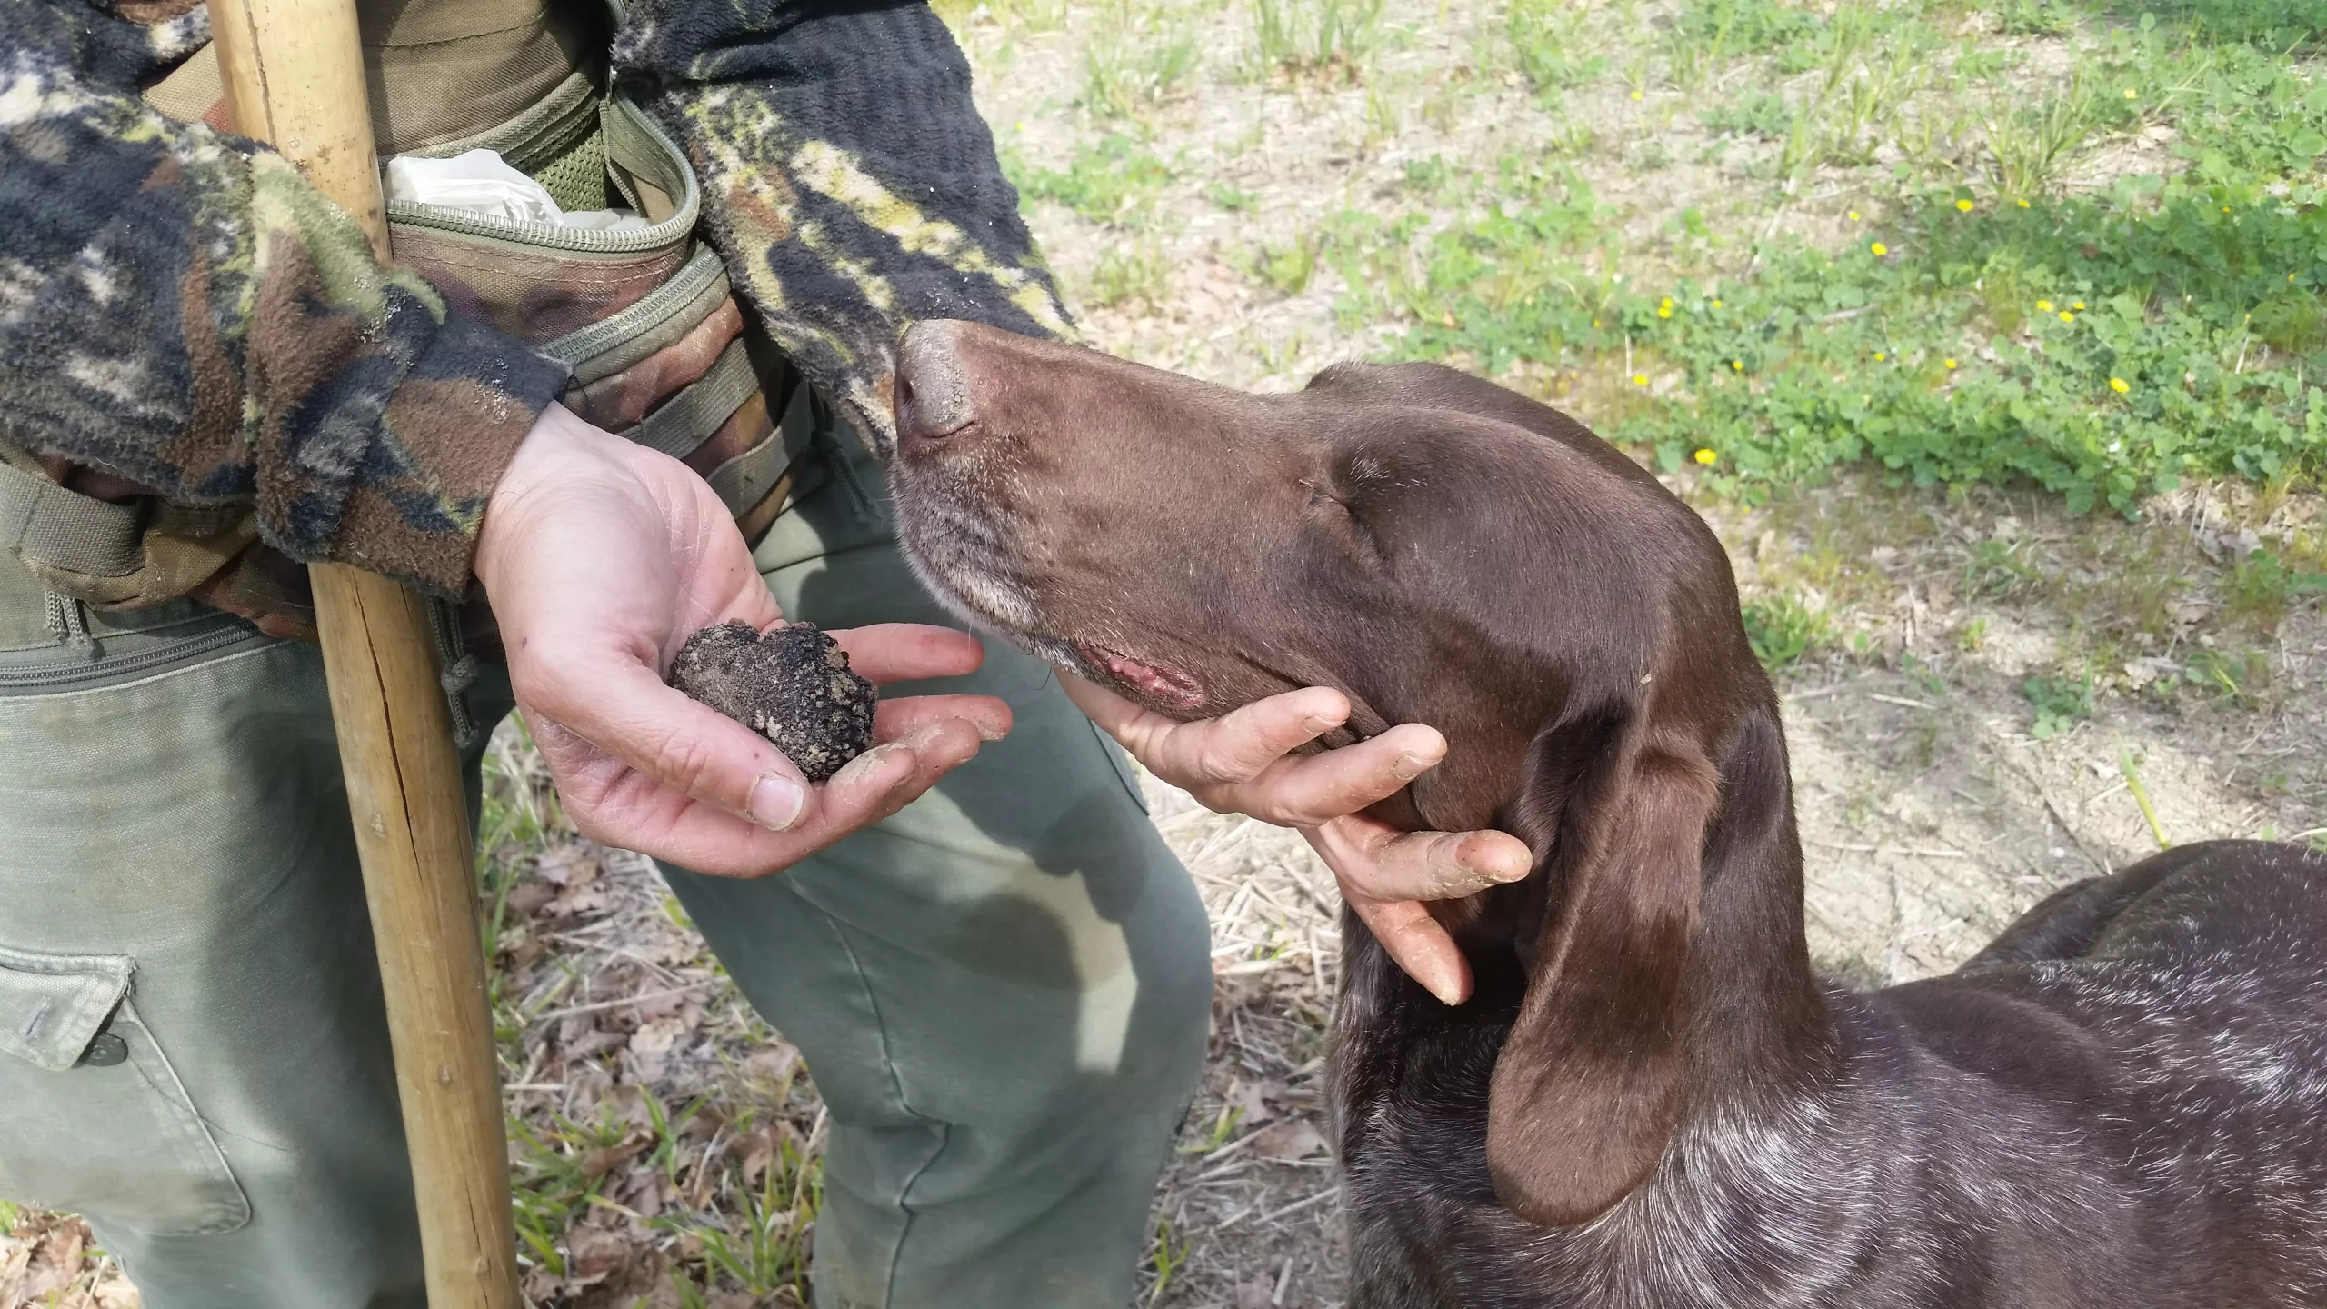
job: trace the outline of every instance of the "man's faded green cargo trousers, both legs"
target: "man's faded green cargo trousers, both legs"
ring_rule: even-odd
[[[877,473],[835,470],[761,545],[784,610],[940,620]],[[821,1307],[1122,1309],[1203,1055],[1203,911],[1042,666],[989,648],[956,685],[1017,729],[933,794],[773,878],[666,873],[831,1106]],[[149,1309],[421,1304],[316,650],[93,622],[9,559],[0,1197],[86,1214]]]

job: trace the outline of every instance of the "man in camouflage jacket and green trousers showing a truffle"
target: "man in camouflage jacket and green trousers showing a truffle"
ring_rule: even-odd
[[[365,5],[375,119],[442,100],[398,68],[451,37],[398,30],[468,23],[561,77],[605,49],[591,14]],[[926,624],[863,450],[819,447],[749,550],[703,477],[558,408],[563,366],[377,268],[265,149],[144,107],[205,23],[193,0],[0,0],[0,529],[21,559],[0,559],[0,1195],[88,1214],[151,1309],[421,1304],[321,666],[268,636],[296,627],[268,561],[337,559],[482,585],[507,678],[472,708],[514,699],[568,815],[666,859],[807,1055],[835,1123],[819,1304],[1124,1304],[1210,969],[1112,745],[1038,664]],[[766,333],[873,443],[903,321],[1066,331],[926,7],[645,5],[612,82],[684,144]],[[140,578],[175,582],[91,603],[42,554],[56,508],[88,503],[137,508]],[[659,678],[689,631],[782,615],[845,629],[877,680],[933,680],[821,787]],[[1438,762],[1433,731],[1291,759],[1347,713],[1336,692],[1208,724],[1068,694],[1208,804],[1308,829],[1459,999],[1410,897],[1527,852],[1354,818]]]

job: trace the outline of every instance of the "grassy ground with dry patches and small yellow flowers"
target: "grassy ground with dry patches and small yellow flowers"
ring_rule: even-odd
[[[2327,0],[942,12],[1096,345],[1264,389],[1445,359],[1713,519],[1836,971],[2327,832]],[[1150,794],[1219,995],[1143,1300],[1336,1304],[1331,880]],[[484,845],[528,1300],[798,1302],[807,1071],[507,731]],[[135,1304],[77,1223],[0,1230],[0,1309]]]

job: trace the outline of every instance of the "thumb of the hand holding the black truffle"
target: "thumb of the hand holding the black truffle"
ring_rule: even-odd
[[[654,787],[784,832],[810,808],[807,780],[766,736],[663,685],[654,668],[612,657],[577,659],[519,701],[638,771]]]

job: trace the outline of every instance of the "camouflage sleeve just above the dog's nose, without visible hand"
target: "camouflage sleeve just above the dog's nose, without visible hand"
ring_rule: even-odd
[[[875,452],[908,321],[1073,333],[921,0],[640,0],[614,68],[693,158],[735,284]]]

